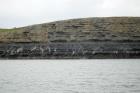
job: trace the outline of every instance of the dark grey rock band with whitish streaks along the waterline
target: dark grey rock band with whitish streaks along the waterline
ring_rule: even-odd
[[[0,59],[140,58],[140,42],[1,43]]]

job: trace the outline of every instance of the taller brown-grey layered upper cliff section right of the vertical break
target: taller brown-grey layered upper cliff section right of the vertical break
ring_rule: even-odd
[[[140,40],[140,18],[75,19],[46,26],[50,42]]]

